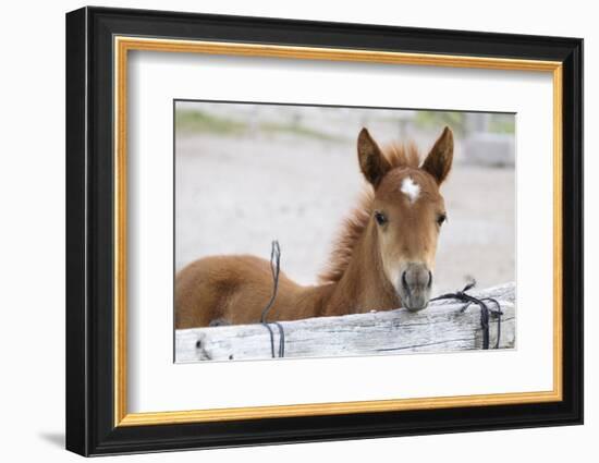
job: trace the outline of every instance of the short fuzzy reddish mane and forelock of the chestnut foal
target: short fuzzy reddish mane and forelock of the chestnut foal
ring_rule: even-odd
[[[392,143],[382,148],[382,153],[391,169],[409,167],[417,169],[420,163],[418,149],[414,144],[402,145]],[[375,192],[370,185],[360,194],[357,206],[344,219],[341,231],[333,244],[329,263],[325,270],[318,276],[318,282],[321,284],[335,283],[343,277],[354,248],[368,226],[372,214],[372,202]]]

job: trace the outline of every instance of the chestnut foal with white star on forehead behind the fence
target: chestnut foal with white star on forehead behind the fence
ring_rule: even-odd
[[[371,188],[346,220],[321,284],[301,287],[281,272],[269,321],[428,305],[437,241],[447,218],[439,186],[451,169],[453,134],[445,127],[421,166],[413,145],[382,150],[366,129],[357,153]],[[175,326],[258,322],[271,293],[267,260],[201,258],[176,276]]]

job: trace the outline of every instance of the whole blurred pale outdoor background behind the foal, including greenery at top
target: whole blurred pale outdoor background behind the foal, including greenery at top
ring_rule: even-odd
[[[359,130],[426,156],[444,125],[455,151],[433,293],[514,281],[514,114],[200,101],[175,102],[175,269],[216,254],[268,259],[277,239],[282,271],[316,283],[365,187]]]

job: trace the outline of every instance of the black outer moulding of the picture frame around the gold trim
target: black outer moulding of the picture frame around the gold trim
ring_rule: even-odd
[[[563,400],[114,426],[114,35],[562,62]],[[66,14],[66,449],[100,455],[582,423],[582,39],[105,8]]]

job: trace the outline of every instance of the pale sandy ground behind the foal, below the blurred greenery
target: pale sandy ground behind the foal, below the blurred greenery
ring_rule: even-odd
[[[442,187],[449,215],[435,293],[515,279],[515,172],[468,166],[459,156]],[[426,146],[425,146],[426,147]],[[364,187],[352,142],[180,135],[175,150],[175,266],[216,254],[268,258],[279,240],[282,270],[316,282],[343,217]]]

